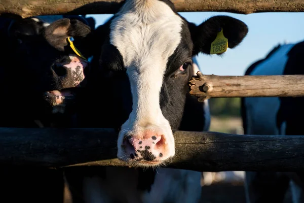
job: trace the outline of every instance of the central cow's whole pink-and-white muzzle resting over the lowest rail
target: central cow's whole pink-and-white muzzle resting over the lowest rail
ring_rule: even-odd
[[[122,130],[118,142],[118,158],[137,165],[161,165],[175,154],[169,126],[137,126],[135,130]]]

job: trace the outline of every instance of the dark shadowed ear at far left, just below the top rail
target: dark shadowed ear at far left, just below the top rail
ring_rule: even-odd
[[[37,18],[12,20],[8,27],[8,37],[22,43],[27,37],[40,35],[43,29],[44,22]]]

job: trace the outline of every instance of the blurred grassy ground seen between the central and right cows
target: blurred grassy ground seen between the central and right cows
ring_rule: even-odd
[[[209,106],[211,113],[210,131],[243,134],[241,98],[211,98],[209,99]],[[201,180],[202,185],[204,185],[202,187],[201,203],[245,202],[242,180],[244,174],[242,172],[236,173],[238,173],[235,174],[238,177],[234,177],[235,180],[226,180],[228,174],[225,172],[205,172],[204,178]]]

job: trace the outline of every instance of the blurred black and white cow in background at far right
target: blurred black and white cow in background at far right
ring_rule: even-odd
[[[245,75],[302,75],[304,41],[278,44],[267,56],[252,63]],[[301,135],[303,97],[244,97],[241,112],[244,134]],[[303,202],[301,173],[246,172],[247,202]]]

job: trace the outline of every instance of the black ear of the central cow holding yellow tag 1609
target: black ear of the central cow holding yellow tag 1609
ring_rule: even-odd
[[[211,54],[211,43],[220,31],[227,39],[228,47],[232,49],[239,45],[248,33],[248,27],[244,22],[230,16],[214,16],[198,26],[189,23],[189,29],[194,43],[193,55],[200,52]]]

